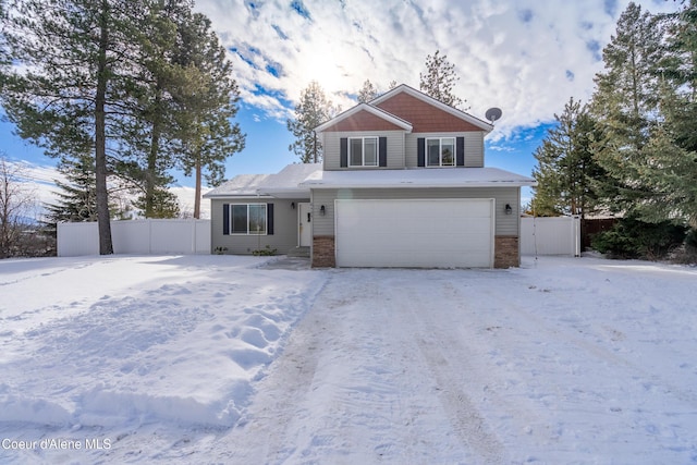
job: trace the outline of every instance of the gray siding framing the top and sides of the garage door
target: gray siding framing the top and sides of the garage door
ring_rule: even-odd
[[[334,199],[392,199],[392,198],[493,198],[496,199],[494,235],[518,235],[519,187],[458,187],[458,188],[369,188],[369,189],[313,189],[315,212],[314,235],[334,235]],[[505,205],[513,209],[505,215]],[[325,206],[325,215],[319,210]]]

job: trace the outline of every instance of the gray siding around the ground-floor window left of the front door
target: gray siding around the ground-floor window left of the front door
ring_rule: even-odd
[[[295,203],[295,209],[291,203]],[[253,250],[265,248],[267,245],[278,249],[279,255],[286,254],[288,250],[297,245],[298,230],[298,208],[299,201],[308,199],[278,199],[278,198],[228,198],[211,199],[211,253],[216,247],[228,247],[227,254],[252,254]],[[273,234],[267,235],[242,235],[223,234],[223,204],[273,204]]]

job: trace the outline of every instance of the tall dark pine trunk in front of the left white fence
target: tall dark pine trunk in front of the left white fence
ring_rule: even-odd
[[[99,254],[113,254],[111,243],[111,223],[109,218],[109,193],[107,191],[107,137],[106,137],[106,101],[107,101],[107,47],[109,30],[107,15],[109,4],[101,2],[99,57],[97,59],[97,93],[95,95],[95,181],[97,185],[97,222],[99,228]]]

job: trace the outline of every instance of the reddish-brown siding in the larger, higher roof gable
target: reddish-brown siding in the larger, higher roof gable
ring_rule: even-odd
[[[412,123],[414,133],[481,131],[481,127],[477,127],[406,93],[400,93],[378,103],[377,107]]]

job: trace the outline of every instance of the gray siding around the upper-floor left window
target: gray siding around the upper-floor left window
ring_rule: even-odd
[[[341,168],[339,140],[342,137],[387,137],[387,169],[404,168],[404,131],[360,131],[360,132],[326,132],[322,133],[325,170],[384,170],[386,168]]]

